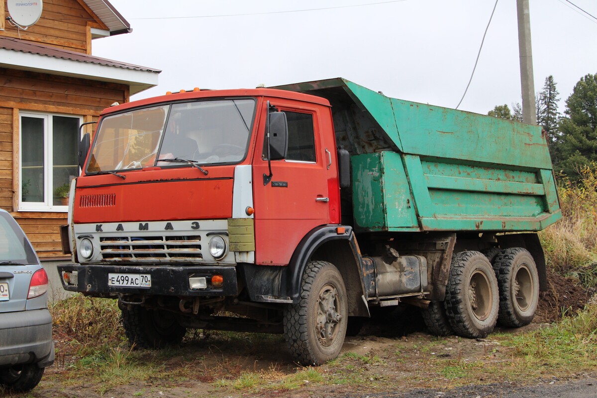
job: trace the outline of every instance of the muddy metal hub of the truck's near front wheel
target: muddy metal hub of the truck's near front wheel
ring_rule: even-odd
[[[325,285],[317,298],[316,328],[319,343],[329,347],[337,337],[342,316],[338,302],[338,291],[332,285]]]

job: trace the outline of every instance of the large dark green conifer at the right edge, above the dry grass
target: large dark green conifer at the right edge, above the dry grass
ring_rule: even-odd
[[[556,169],[576,179],[581,165],[597,162],[597,73],[577,82],[559,120]]]

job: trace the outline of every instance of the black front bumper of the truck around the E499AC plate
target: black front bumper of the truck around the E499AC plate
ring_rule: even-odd
[[[167,296],[234,296],[238,294],[236,267],[234,266],[171,266],[147,264],[144,266],[114,266],[112,264],[66,264],[58,267],[65,290],[82,292],[97,297],[118,294],[167,295]],[[64,282],[64,272],[77,271],[77,285]],[[150,274],[149,288],[109,286],[108,274]],[[210,281],[214,275],[223,276],[224,283],[216,288],[207,283],[204,289],[191,289],[189,277],[205,277]]]

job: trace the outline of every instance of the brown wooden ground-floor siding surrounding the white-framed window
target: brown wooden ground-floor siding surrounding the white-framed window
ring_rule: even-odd
[[[82,115],[85,122],[97,120],[101,110],[112,103],[128,101],[128,86],[0,68],[0,87],[0,207],[11,211],[40,258],[64,258],[60,225],[66,224],[66,212],[17,211],[19,111],[66,113]]]

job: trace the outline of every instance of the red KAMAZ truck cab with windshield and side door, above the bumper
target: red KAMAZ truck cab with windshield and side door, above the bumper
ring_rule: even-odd
[[[288,155],[271,162],[273,175],[264,184],[263,175],[269,175],[264,150],[268,101],[285,113],[290,134]],[[125,229],[136,233],[173,228],[170,231],[195,235],[213,232],[204,230],[205,221],[252,220],[245,224],[254,223],[254,236],[239,239],[247,244],[252,240],[254,248],[241,251],[238,258],[287,265],[307,232],[340,222],[334,139],[327,100],[295,92],[192,91],[111,107],[101,115],[76,182],[75,229],[86,225],[90,233]],[[236,236],[224,235],[226,254],[220,258],[204,250],[208,237],[201,239],[201,252],[195,254],[182,250],[182,242],[174,252],[153,248],[146,253],[143,248],[124,252],[119,247],[125,245],[104,252],[100,245],[93,247],[93,257],[78,253],[78,260],[237,261],[238,251],[230,251],[229,242]],[[75,245],[78,240],[75,237]]]

